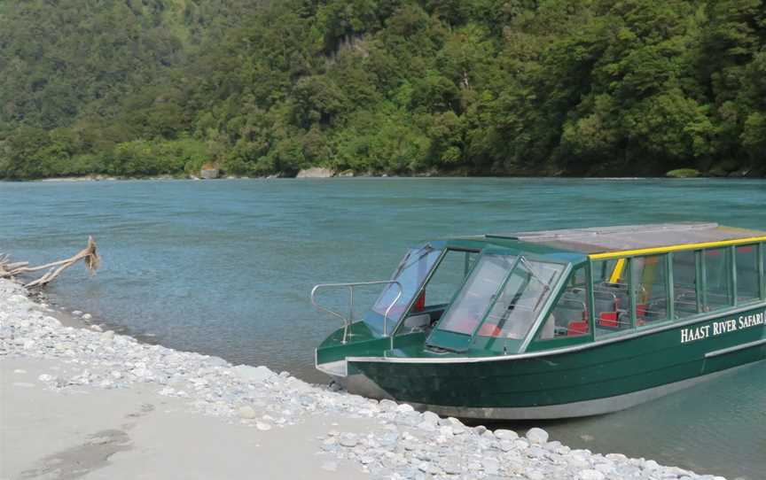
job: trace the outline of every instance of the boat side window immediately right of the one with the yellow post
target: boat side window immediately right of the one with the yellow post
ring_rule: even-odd
[[[630,260],[638,327],[668,320],[668,255]]]

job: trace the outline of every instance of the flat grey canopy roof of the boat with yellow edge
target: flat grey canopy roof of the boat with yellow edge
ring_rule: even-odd
[[[766,241],[766,232],[724,227],[717,223],[655,223],[617,227],[540,230],[486,235],[488,240],[509,239],[541,244],[551,249],[580,252],[591,259],[615,258]]]

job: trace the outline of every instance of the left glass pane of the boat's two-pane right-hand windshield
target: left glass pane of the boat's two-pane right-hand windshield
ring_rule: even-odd
[[[481,256],[463,289],[444,314],[439,329],[472,335],[515,259],[509,255]]]

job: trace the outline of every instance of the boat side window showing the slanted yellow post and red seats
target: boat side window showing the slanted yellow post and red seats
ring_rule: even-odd
[[[594,261],[593,313],[596,317],[596,337],[626,333],[633,328],[630,319],[629,259]]]

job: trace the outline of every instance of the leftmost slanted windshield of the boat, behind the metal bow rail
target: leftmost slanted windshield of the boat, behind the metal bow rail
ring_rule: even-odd
[[[420,290],[420,286],[426,282],[428,273],[441,254],[441,250],[434,249],[431,245],[414,248],[407,252],[399,263],[399,267],[396,267],[391,279],[402,284],[402,297],[396,301],[395,306],[388,313],[387,327],[389,330],[395,327],[396,322],[404,314],[404,310],[410,305],[412,298]],[[381,316],[385,315],[386,310],[398,294],[399,288],[396,284],[387,285],[372,306],[372,311]]]

